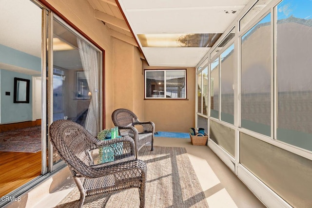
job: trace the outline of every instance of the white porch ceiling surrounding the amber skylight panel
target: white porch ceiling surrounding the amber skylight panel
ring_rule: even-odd
[[[249,0],[118,0],[151,66],[195,67],[210,48],[142,47],[137,34],[223,33]]]

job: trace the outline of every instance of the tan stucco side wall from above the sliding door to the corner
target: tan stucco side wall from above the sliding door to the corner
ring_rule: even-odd
[[[94,17],[94,9],[86,0],[46,0],[66,19],[104,49],[105,103],[103,123],[113,126],[112,112],[117,108],[133,110],[144,116],[144,78],[137,47],[112,38],[110,29]]]

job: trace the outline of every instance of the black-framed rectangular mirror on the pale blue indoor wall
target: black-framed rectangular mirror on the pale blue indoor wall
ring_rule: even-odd
[[[14,103],[29,103],[29,79],[14,77]]]

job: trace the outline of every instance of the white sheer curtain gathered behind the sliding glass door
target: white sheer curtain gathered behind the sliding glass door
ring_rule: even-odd
[[[91,92],[90,105],[85,122],[85,129],[92,135],[98,135],[98,51],[84,40],[77,38],[79,54]]]

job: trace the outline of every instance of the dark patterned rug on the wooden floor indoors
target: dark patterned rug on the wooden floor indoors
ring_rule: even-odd
[[[0,151],[41,151],[41,126],[0,132]]]

